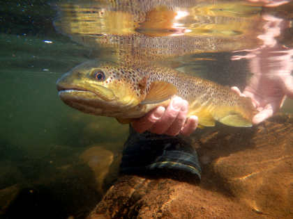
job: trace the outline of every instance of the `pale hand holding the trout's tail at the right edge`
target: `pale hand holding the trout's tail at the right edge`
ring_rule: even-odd
[[[293,77],[290,74],[267,76],[255,74],[243,93],[232,87],[241,97],[250,97],[259,113],[253,117],[253,124],[259,124],[275,114],[286,96],[293,98]]]

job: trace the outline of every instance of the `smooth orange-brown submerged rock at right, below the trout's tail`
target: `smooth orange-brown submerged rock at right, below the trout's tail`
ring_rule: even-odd
[[[257,127],[246,147],[213,163],[213,172],[236,199],[274,218],[293,217],[293,118]]]

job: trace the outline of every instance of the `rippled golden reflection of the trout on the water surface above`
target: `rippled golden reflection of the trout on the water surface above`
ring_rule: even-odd
[[[103,47],[122,62],[253,49],[261,42],[262,8],[243,1],[75,1],[57,8],[59,32],[94,56],[105,58]]]

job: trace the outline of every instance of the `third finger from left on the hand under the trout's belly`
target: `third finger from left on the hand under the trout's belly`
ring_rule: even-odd
[[[171,124],[170,128],[167,129],[165,134],[169,136],[176,136],[181,131],[182,127],[185,124],[186,116],[188,112],[188,102],[186,100],[183,100],[182,106],[180,108],[180,111],[174,120],[174,122]]]

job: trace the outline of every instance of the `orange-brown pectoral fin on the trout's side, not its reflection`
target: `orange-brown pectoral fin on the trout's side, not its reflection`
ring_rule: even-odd
[[[157,104],[170,99],[176,95],[177,88],[172,84],[165,81],[153,81],[149,87],[149,93],[143,102],[140,104]]]

